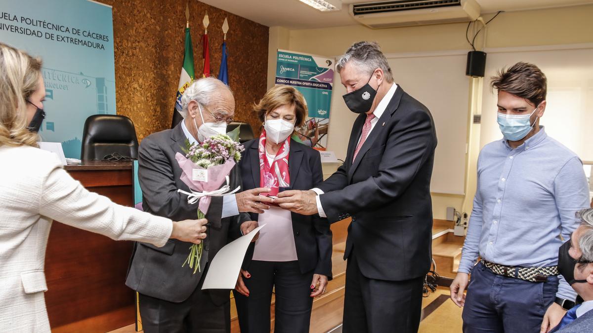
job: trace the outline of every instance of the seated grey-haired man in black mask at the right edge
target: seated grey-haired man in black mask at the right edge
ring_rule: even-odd
[[[573,306],[550,332],[589,333],[593,331],[593,209],[577,214],[581,226],[560,246],[558,268],[572,289],[584,300]]]

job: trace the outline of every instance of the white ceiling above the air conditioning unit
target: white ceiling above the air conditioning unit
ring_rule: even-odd
[[[341,27],[356,25],[348,14],[349,4],[378,2],[380,0],[342,0],[342,10],[320,12],[298,0],[199,0],[213,7],[251,21],[273,27],[280,25],[292,29]],[[477,0],[482,14],[496,11],[565,7],[591,4],[593,0]]]

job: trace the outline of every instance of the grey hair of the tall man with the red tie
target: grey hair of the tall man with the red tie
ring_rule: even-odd
[[[369,73],[381,68],[387,82],[393,82],[393,73],[387,58],[381,52],[379,44],[374,41],[359,41],[352,44],[346,53],[337,60],[336,71],[338,73],[342,71],[347,62],[352,62],[356,67]]]

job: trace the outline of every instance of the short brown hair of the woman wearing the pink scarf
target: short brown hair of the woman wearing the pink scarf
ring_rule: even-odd
[[[256,111],[257,118],[266,120],[266,114],[283,105],[294,105],[297,121],[295,127],[305,123],[307,117],[307,102],[301,92],[289,85],[276,85],[263,95],[259,103],[253,105],[253,111]]]

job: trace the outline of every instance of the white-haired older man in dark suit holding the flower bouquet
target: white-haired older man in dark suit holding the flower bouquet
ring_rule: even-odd
[[[176,219],[195,219],[197,204],[187,203],[189,191],[180,180],[176,153],[190,142],[203,142],[209,136],[226,133],[232,121],[235,100],[230,89],[214,78],[195,81],[181,98],[183,117],[174,129],[149,135],[138,151],[138,174],[146,212]],[[241,185],[238,165],[232,169],[229,185]],[[206,214],[207,237],[203,241],[201,271],[181,267],[190,245],[177,240],[162,248],[136,243],[126,285],[139,293],[142,326],[151,332],[229,332],[229,290],[201,290],[209,262],[229,240],[256,228],[247,213],[262,213],[267,198],[262,188],[236,196],[212,197]]]

